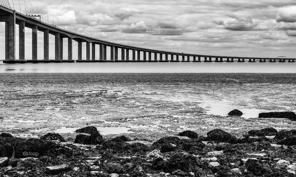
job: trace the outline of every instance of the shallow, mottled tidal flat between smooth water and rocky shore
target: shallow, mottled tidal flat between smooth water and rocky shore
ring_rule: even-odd
[[[2,73],[0,132],[74,138],[71,132],[93,125],[106,136],[150,141],[183,130],[290,129],[296,123],[257,116],[295,112],[295,90],[296,74]],[[245,114],[226,116],[232,109]]]

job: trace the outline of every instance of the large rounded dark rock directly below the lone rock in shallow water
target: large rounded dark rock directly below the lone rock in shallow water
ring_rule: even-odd
[[[235,139],[232,135],[220,129],[211,130],[207,133],[207,135],[208,135],[207,137],[208,140],[216,141],[218,143],[233,142]]]

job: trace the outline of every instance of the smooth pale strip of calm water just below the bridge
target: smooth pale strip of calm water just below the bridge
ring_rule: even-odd
[[[3,64],[0,73],[296,73],[296,63],[39,63]]]

